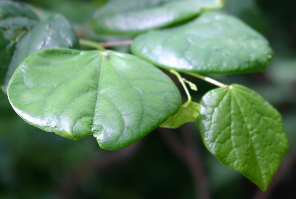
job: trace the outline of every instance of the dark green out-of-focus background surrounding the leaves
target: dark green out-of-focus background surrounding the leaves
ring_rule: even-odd
[[[86,25],[107,0],[23,0],[40,18],[62,13],[80,37],[96,35]],[[197,199],[206,183],[212,199],[295,199],[296,191],[296,3],[295,0],[227,0],[223,10],[266,36],[275,58],[265,72],[212,75],[259,92],[283,116],[290,147],[267,192],[223,166],[204,147],[197,124],[157,128],[118,151],[99,148],[95,138],[62,138],[25,123],[0,92],[0,199]],[[128,47],[116,50],[127,52]],[[174,77],[172,77],[174,78]],[[187,77],[199,102],[215,87]],[[192,134],[194,132],[194,134]]]

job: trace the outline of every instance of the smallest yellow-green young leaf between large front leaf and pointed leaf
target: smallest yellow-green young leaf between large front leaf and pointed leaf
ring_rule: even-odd
[[[168,118],[160,127],[178,128],[187,122],[195,122],[200,114],[201,106],[195,102],[186,102],[181,109]]]

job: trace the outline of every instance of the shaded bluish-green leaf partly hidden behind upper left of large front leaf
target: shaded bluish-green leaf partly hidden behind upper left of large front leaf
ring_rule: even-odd
[[[79,48],[78,36],[67,18],[54,15],[39,22],[19,39],[2,84],[4,92],[7,92],[8,82],[19,64],[29,54],[42,48]]]

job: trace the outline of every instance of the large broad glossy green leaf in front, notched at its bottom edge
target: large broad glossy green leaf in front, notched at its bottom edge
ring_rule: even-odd
[[[108,150],[140,140],[181,106],[165,73],[115,51],[39,50],[12,76],[8,98],[29,124],[73,140],[93,134]]]

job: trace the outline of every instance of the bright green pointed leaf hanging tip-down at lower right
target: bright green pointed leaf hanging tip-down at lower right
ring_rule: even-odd
[[[234,84],[203,96],[198,124],[214,156],[267,190],[288,148],[276,109],[254,90]]]

